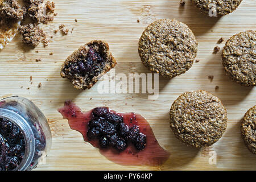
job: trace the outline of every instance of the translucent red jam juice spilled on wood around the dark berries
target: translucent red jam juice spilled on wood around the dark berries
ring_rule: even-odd
[[[166,162],[170,154],[164,150],[155,138],[155,135],[149,123],[140,114],[135,113],[116,113],[123,117],[123,122],[132,127],[139,126],[141,133],[146,135],[146,147],[142,151],[138,151],[133,144],[129,144],[124,151],[117,151],[113,147],[102,148],[98,140],[92,140],[87,137],[88,123],[92,119],[92,110],[82,113],[81,109],[71,101],[66,101],[64,107],[58,110],[63,118],[68,119],[71,129],[79,131],[84,137],[85,142],[89,142],[94,147],[100,149],[102,155],[114,163],[126,166],[159,166]]]

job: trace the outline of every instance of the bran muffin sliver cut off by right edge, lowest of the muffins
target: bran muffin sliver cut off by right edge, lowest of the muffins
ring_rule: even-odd
[[[249,151],[256,154],[256,105],[251,107],[243,117],[241,133]]]

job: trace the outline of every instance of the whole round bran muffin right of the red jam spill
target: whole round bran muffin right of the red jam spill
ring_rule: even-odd
[[[185,92],[171,106],[171,129],[175,137],[188,146],[211,146],[222,137],[226,125],[224,105],[204,90]]]

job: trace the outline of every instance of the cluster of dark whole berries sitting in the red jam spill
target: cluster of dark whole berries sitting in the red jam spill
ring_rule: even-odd
[[[134,125],[129,128],[121,115],[110,113],[107,107],[96,107],[88,126],[87,137],[99,139],[103,148],[112,146],[118,151],[123,151],[129,142],[139,151],[146,146],[146,136],[140,133],[139,127]]]

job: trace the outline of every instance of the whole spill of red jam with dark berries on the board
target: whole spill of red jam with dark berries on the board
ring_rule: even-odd
[[[159,166],[170,156],[140,114],[117,113],[108,107],[83,113],[71,101],[66,101],[58,111],[68,119],[71,129],[79,131],[85,142],[99,148],[100,153],[114,163]]]

